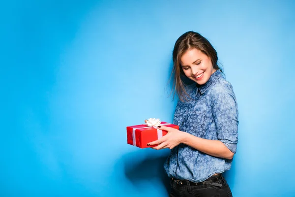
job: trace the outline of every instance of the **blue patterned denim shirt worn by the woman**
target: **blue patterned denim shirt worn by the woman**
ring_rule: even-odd
[[[185,87],[190,100],[178,101],[173,123],[180,131],[197,137],[220,140],[236,153],[238,142],[238,109],[232,85],[221,71],[215,71],[209,80],[197,87]],[[179,144],[171,150],[164,164],[169,177],[202,182],[215,173],[231,168],[233,160],[207,155],[188,145]]]

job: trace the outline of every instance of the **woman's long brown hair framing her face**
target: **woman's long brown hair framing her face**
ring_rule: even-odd
[[[177,96],[181,101],[184,101],[184,99],[188,100],[187,97],[190,98],[184,88],[188,84],[188,77],[185,76],[180,65],[182,55],[190,49],[200,50],[207,55],[211,59],[213,68],[216,70],[220,69],[222,72],[222,69],[217,65],[217,52],[210,42],[200,33],[191,31],[183,33],[177,39],[173,49],[173,69],[170,76],[170,83],[173,80],[171,92],[171,94],[173,94],[173,99],[175,93],[177,93]]]

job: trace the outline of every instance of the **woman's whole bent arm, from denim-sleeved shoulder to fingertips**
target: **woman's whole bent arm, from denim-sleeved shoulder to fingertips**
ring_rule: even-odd
[[[238,110],[232,87],[228,90],[225,90],[223,87],[217,87],[214,90],[214,94],[212,94],[211,103],[218,140],[204,139],[187,132],[161,126],[159,129],[166,130],[168,133],[149,144],[159,144],[153,147],[154,149],[172,149],[178,144],[184,143],[214,157],[233,159],[238,142]]]

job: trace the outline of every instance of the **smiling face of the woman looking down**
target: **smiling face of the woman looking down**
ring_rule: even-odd
[[[186,51],[180,59],[180,66],[185,76],[199,85],[205,84],[216,71],[210,58],[197,49]]]

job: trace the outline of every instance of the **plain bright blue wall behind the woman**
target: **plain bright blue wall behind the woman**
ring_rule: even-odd
[[[171,122],[172,50],[196,31],[239,107],[235,197],[294,197],[295,1],[37,1],[0,6],[0,196],[163,197],[169,150],[126,126]]]

